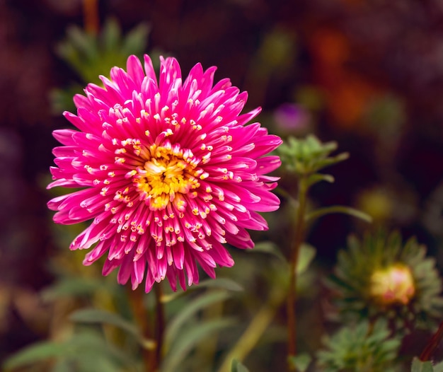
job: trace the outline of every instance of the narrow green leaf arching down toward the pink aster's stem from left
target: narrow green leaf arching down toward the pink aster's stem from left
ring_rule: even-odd
[[[122,318],[121,315],[110,313],[109,311],[94,308],[81,309],[72,313],[69,319],[74,322],[105,323],[115,325],[115,327],[134,335],[137,339],[142,339],[142,335],[136,325],[129,320]]]

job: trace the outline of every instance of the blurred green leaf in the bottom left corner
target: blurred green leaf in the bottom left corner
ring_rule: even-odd
[[[65,344],[59,342],[44,341],[30,345],[13,354],[6,359],[3,368],[8,371],[13,368],[26,366],[28,364],[35,364],[39,361],[44,361],[49,358],[57,358],[60,356],[67,356],[71,354],[70,349]]]

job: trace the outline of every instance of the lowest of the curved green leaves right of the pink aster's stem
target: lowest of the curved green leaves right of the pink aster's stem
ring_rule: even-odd
[[[234,325],[232,319],[216,319],[203,324],[195,324],[182,330],[174,342],[174,347],[164,359],[161,372],[180,371],[180,364],[188,353],[206,337],[212,337],[214,332],[218,332],[226,327]]]

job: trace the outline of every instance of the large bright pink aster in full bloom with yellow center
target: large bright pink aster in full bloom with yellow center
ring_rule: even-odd
[[[210,277],[234,261],[224,247],[253,248],[246,228],[267,229],[258,211],[275,211],[270,192],[280,165],[267,153],[281,144],[259,123],[260,112],[241,115],[247,93],[229,79],[214,85],[215,67],[196,64],[183,81],[174,58],[161,58],[157,81],[151,59],[137,57],[127,71],[114,67],[103,87],[89,84],[76,95],[79,130],[61,129],[64,146],[53,151],[54,186],[83,187],[48,202],[56,223],[91,224],[71,250],[92,248],[84,265],[105,253],[103,275],[119,267],[117,280],[132,288],[168,278],[176,290],[198,282],[197,263]],[[145,279],[144,279],[145,278]]]

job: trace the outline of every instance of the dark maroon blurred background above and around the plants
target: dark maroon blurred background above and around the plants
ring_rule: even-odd
[[[86,27],[88,2],[0,0],[0,359],[45,337],[37,293],[56,250],[45,185],[51,132],[67,127],[50,97],[81,83],[56,51],[69,25]],[[109,17],[123,33],[149,25],[145,51],[177,57],[183,75],[218,66],[217,80],[263,107],[270,132],[338,141],[350,159],[331,168],[333,185],[313,188],[313,203],[363,209],[443,262],[442,1],[99,1],[98,27]],[[287,231],[278,216],[270,235]],[[309,241],[328,265],[359,228],[328,216]]]

